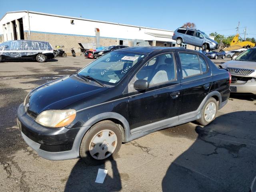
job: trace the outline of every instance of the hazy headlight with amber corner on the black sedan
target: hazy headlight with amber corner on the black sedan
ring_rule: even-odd
[[[46,110],[41,112],[36,122],[46,127],[64,127],[70,124],[76,117],[76,110]]]

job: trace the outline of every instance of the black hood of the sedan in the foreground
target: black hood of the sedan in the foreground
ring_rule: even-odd
[[[40,114],[44,110],[62,109],[106,89],[108,88],[96,86],[93,82],[85,82],[76,75],[71,75],[32,90],[26,103],[29,103],[29,110]]]

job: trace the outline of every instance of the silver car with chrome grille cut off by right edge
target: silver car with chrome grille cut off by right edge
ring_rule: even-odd
[[[231,74],[231,92],[256,94],[256,47],[220,65]]]

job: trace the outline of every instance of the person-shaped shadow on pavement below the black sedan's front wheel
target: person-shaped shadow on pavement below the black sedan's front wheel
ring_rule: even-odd
[[[111,169],[108,169],[106,178],[102,184],[96,183],[98,169],[106,169],[106,162],[111,163]],[[116,165],[116,161],[112,156],[110,159],[98,166],[90,166],[82,159],[78,160],[72,169],[68,181],[66,183],[65,192],[110,192],[120,191],[122,183],[120,174]],[[109,173],[113,172],[113,178]]]

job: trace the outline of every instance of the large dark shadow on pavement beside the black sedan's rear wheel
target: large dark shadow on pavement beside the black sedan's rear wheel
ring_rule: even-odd
[[[249,191],[256,176],[256,111],[218,116],[195,131],[195,142],[166,171],[162,190]]]

